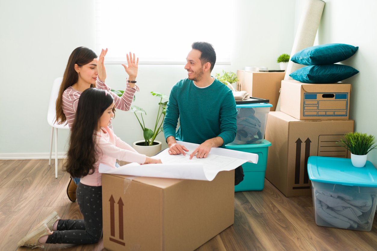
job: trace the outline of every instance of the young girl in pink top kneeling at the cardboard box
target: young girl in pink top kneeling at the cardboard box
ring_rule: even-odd
[[[66,170],[81,177],[77,202],[83,220],[62,220],[56,212],[18,242],[18,246],[37,247],[43,243],[96,243],[102,237],[102,180],[100,163],[115,168],[115,161],[140,164],[161,163],[161,160],[139,154],[116,137],[109,124],[114,115],[114,99],[106,91],[89,88],[81,94],[72,126]]]

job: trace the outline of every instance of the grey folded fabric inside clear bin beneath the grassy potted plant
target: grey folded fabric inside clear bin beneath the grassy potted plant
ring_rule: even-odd
[[[354,191],[358,187],[336,186],[333,192],[314,191],[317,215],[338,228],[368,228],[374,214],[371,213],[375,195]]]

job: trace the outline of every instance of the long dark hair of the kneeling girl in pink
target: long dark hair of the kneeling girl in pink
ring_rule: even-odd
[[[94,172],[97,155],[96,131],[103,112],[112,104],[113,97],[106,90],[89,88],[78,100],[75,121],[69,140],[66,171],[72,177],[83,177]]]

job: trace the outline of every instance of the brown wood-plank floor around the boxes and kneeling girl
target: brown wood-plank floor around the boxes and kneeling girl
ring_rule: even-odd
[[[76,202],[66,195],[69,175],[55,179],[54,161],[0,160],[0,250],[26,250],[17,242],[51,211],[79,219]],[[59,160],[61,166],[61,160]],[[106,250],[95,245],[46,244],[44,250]],[[370,232],[316,225],[311,197],[286,198],[265,180],[261,192],[238,192],[234,224],[199,247],[199,251],[231,250],[376,250],[377,219]]]

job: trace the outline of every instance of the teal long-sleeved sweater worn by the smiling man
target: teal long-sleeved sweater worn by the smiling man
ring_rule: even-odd
[[[217,136],[224,145],[236,137],[236,102],[232,91],[220,81],[206,88],[197,87],[190,79],[182,79],[170,91],[164,119],[165,139],[201,144]],[[179,128],[177,127],[179,117]]]

